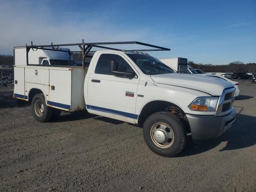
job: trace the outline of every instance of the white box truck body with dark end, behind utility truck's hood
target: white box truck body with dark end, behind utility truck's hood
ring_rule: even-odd
[[[187,73],[188,71],[188,59],[186,58],[162,58],[159,60],[178,73]]]

